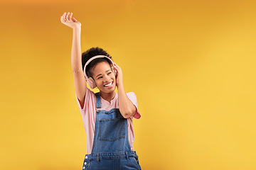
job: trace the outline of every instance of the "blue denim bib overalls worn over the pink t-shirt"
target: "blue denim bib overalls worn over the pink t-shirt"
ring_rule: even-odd
[[[141,169],[128,139],[127,119],[119,108],[100,110],[100,92],[96,93],[95,135],[92,153],[86,154],[82,169]]]

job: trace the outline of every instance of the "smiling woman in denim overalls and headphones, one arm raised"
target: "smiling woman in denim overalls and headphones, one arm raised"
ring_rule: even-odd
[[[92,47],[81,57],[81,23],[72,15],[63,13],[60,21],[73,28],[71,66],[75,97],[87,136],[82,169],[141,169],[133,147],[132,118],[141,117],[136,95],[124,91],[122,69],[105,50]],[[87,84],[100,92],[95,94]],[[114,92],[116,86],[118,94]]]

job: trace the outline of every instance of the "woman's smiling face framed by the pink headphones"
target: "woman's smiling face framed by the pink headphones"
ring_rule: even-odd
[[[116,86],[116,78],[110,64],[107,62],[100,62],[92,69],[92,78],[100,91],[105,93],[112,93]]]

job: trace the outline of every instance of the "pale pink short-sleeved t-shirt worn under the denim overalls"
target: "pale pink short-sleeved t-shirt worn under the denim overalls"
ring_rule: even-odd
[[[134,92],[129,92],[126,94],[129,100],[132,101],[132,103],[134,103],[134,106],[136,106],[135,115],[130,118],[127,118],[129,144],[131,146],[132,151],[134,151],[134,147],[133,147],[134,130],[132,126],[132,118],[139,119],[141,115],[137,109],[138,103],[137,103],[137,98]],[[117,97],[118,97],[118,94],[116,93],[116,95],[110,102],[105,101],[102,97],[100,97],[102,101],[102,106],[100,109],[105,111],[110,111],[112,108],[119,108]],[[85,103],[83,106],[80,106],[78,96],[76,94],[75,94],[75,98],[78,102],[78,107],[79,107],[80,113],[82,114],[82,122],[85,127],[85,133],[87,138],[87,154],[91,154],[93,138],[95,133],[96,96],[95,96],[95,93],[90,89],[88,89],[87,87],[87,91],[85,94]]]

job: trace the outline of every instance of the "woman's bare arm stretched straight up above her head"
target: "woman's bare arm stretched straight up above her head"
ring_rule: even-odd
[[[69,15],[70,14],[70,15]],[[70,28],[73,28],[73,42],[71,49],[71,67],[73,72],[75,94],[78,96],[80,106],[82,108],[85,103],[86,80],[82,72],[81,58],[81,26],[82,24],[75,18],[72,18],[73,13],[63,13],[60,17],[61,23]]]

